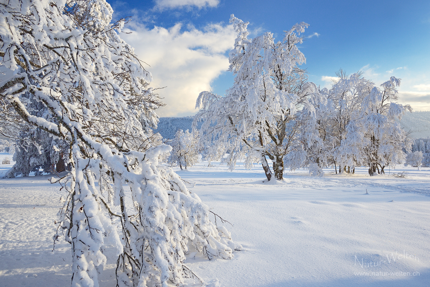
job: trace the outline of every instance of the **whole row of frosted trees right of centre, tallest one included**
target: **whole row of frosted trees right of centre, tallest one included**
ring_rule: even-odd
[[[300,68],[306,59],[297,45],[308,24],[275,42],[268,32],[248,39],[249,23],[234,15],[230,23],[238,33],[229,56],[234,84],[225,96],[200,93],[196,104],[194,128],[203,121],[209,160],[228,154],[230,169],[242,158],[248,167],[260,162],[268,180],[283,179],[285,168],[322,175],[327,165],[348,173],[367,165],[372,175],[404,160],[410,141],[397,120],[412,109],[395,102],[400,79],[378,88],[361,73],[340,70],[331,89],[319,89]]]

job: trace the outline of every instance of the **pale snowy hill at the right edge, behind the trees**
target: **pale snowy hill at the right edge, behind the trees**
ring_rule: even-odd
[[[411,131],[415,139],[430,137],[430,111],[407,112],[400,125],[406,131]]]

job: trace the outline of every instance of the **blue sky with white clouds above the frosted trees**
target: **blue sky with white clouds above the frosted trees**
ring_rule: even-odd
[[[250,37],[307,22],[300,50],[309,80],[330,86],[339,68],[364,71],[381,84],[402,78],[400,103],[430,110],[430,1],[107,0],[114,19],[132,16],[121,36],[151,67],[166,107],[160,116],[194,114],[199,91],[223,94],[233,83],[230,14],[248,21]]]

